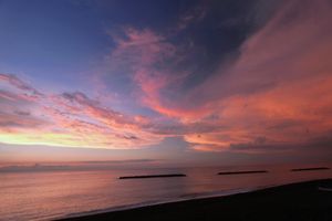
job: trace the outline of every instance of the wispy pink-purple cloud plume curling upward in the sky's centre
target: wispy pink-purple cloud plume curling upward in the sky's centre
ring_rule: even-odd
[[[138,87],[135,96],[142,105],[148,106],[166,116],[177,116],[181,109],[169,107],[173,102],[163,93],[172,93],[180,87],[188,75],[187,72],[176,72],[172,66],[181,55],[178,49],[167,42],[167,39],[149,29],[124,30],[125,38],[114,36],[117,46],[107,57],[111,70],[123,70],[131,74],[131,78]],[[115,71],[114,71],[115,72]]]

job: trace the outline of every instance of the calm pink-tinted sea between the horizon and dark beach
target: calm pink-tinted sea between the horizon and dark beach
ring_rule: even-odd
[[[232,194],[297,181],[332,178],[332,170],[290,172],[290,168],[293,167],[1,171],[0,220],[52,220],[167,201]],[[216,175],[219,171],[248,169],[267,169],[270,172]],[[169,172],[183,172],[187,177],[117,179],[120,176]]]

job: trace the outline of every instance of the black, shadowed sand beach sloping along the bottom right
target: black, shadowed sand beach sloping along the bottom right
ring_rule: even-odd
[[[332,179],[228,197],[172,202],[66,220],[318,220],[332,221]]]

